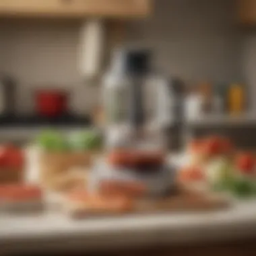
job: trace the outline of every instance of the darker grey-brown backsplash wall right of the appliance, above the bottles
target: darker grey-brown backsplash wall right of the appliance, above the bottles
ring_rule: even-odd
[[[155,16],[131,27],[156,51],[156,65],[185,79],[241,78],[241,32],[233,0],[158,0]]]

